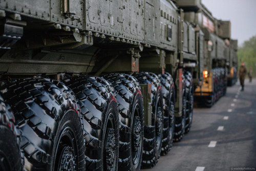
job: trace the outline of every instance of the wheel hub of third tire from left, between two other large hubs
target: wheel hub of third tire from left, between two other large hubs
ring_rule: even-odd
[[[115,130],[108,129],[105,151],[106,151],[106,169],[114,170],[115,156],[116,156],[116,146],[115,146]]]

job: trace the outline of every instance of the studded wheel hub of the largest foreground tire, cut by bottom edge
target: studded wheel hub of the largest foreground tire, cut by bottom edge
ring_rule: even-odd
[[[72,171],[75,170],[75,158],[73,156],[73,148],[66,146],[62,149],[62,155],[60,160],[60,170],[61,171]]]

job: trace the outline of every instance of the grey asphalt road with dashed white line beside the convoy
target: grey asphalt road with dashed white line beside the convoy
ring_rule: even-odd
[[[191,131],[143,169],[154,170],[256,170],[256,80],[245,80],[243,92],[239,82],[228,87],[210,109],[195,108]]]

